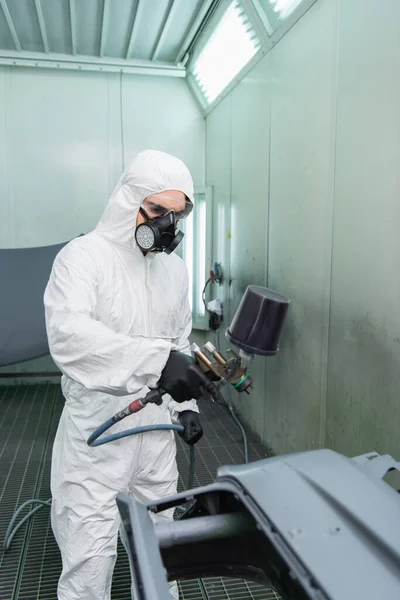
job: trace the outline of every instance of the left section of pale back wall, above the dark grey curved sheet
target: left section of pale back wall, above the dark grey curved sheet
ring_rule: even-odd
[[[121,170],[112,94],[118,77],[6,68],[2,78],[1,246],[41,246],[86,233],[114,185],[109,179]]]

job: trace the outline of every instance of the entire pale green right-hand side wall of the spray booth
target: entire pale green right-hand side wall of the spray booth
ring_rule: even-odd
[[[400,459],[399,22],[394,0],[319,0],[207,118],[226,322],[250,283],[292,300],[236,396],[279,453]]]

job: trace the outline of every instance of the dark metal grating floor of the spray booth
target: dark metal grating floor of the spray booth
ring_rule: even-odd
[[[58,385],[0,388],[0,543],[14,511],[26,500],[50,498],[51,449],[63,397]],[[204,437],[196,449],[196,485],[214,481],[223,464],[243,462],[242,438],[227,411],[202,403]],[[188,477],[189,451],[178,439],[179,489]],[[249,459],[267,451],[249,433]],[[0,552],[1,600],[55,600],[61,570],[58,547],[50,527],[49,510],[39,510]],[[278,596],[252,582],[208,578],[179,582],[181,600],[276,600]],[[119,548],[112,600],[131,600],[129,563]]]

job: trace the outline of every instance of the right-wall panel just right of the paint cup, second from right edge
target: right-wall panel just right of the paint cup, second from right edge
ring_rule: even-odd
[[[336,19],[336,2],[317,3],[272,56],[268,283],[292,300],[267,362],[266,435],[278,452],[318,447],[323,421]]]

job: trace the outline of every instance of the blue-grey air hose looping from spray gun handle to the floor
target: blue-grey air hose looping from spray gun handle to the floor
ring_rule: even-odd
[[[162,393],[162,390],[161,390],[161,393]],[[91,447],[102,446],[103,444],[108,444],[110,442],[113,442],[114,440],[119,440],[124,437],[131,436],[131,435],[137,435],[139,433],[147,433],[148,431],[182,432],[184,430],[183,425],[157,424],[157,425],[145,425],[143,427],[134,427],[132,429],[127,429],[125,431],[119,431],[117,433],[112,433],[110,435],[106,435],[106,436],[103,436],[102,438],[100,438],[101,434],[104,433],[105,431],[107,431],[108,429],[110,429],[110,427],[115,425],[115,423],[117,423],[118,421],[121,421],[125,417],[128,417],[129,415],[131,415],[135,412],[138,412],[139,410],[142,410],[146,406],[146,404],[148,404],[149,402],[161,404],[161,402],[159,401],[159,400],[161,400],[161,393],[158,390],[155,390],[155,391],[153,390],[152,392],[149,392],[149,394],[147,394],[147,396],[145,398],[140,399],[140,400],[134,400],[125,409],[123,409],[122,411],[113,415],[110,419],[105,421],[105,423],[103,423],[97,429],[95,429],[95,431],[90,435],[90,437],[87,440],[88,446],[91,446]],[[195,450],[194,450],[194,446],[190,446],[188,489],[191,489],[194,485],[194,470],[195,470]],[[35,506],[32,510],[30,510],[28,512],[28,514],[26,514],[25,517],[13,529],[14,524],[15,524],[18,516],[20,515],[20,513],[24,510],[24,508],[26,508],[30,504],[36,504],[37,506]],[[26,502],[21,504],[21,506],[13,514],[11,521],[7,527],[7,531],[4,536],[4,542],[3,542],[4,552],[6,552],[9,549],[13,538],[15,537],[15,535],[17,534],[19,529],[22,527],[22,525],[24,525],[24,523],[26,523],[38,510],[40,510],[44,506],[48,506],[48,507],[51,506],[51,498],[49,498],[48,500],[39,500],[37,498],[33,498],[32,500],[27,500]],[[178,518],[182,518],[182,516],[185,514],[185,512],[186,511],[184,511],[183,514],[181,514]]]

